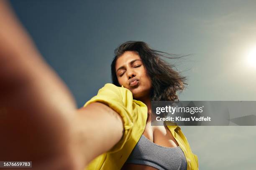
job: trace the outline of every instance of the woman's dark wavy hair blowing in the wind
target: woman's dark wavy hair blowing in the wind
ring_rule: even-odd
[[[175,56],[166,52],[151,49],[146,42],[143,41],[127,41],[115,49],[115,57],[111,63],[111,77],[114,85],[119,86],[118,78],[115,72],[115,64],[118,57],[123,55],[125,51],[136,51],[141,57],[143,65],[146,67],[147,74],[151,77],[152,90],[151,100],[166,100],[177,101],[179,100],[176,92],[182,92],[186,77],[182,77],[179,72],[175,71],[171,65],[160,57],[169,59],[179,58],[169,57]],[[176,68],[176,67],[175,67]]]

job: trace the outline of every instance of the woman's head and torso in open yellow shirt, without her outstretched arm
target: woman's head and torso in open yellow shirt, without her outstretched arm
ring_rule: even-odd
[[[151,126],[151,100],[178,100],[176,92],[184,88],[184,77],[160,55],[145,42],[128,41],[115,50],[114,85],[106,84],[84,107],[93,102],[108,105],[123,118],[125,132],[88,169],[198,169],[197,156],[179,126]]]

